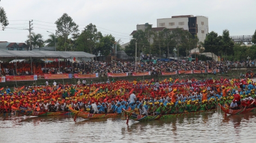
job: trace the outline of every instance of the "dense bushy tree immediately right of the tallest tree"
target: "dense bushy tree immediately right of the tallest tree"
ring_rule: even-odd
[[[99,46],[101,32],[97,31],[95,25],[90,23],[84,28],[81,35],[77,38],[77,51],[84,51],[91,54],[97,53],[97,46]]]

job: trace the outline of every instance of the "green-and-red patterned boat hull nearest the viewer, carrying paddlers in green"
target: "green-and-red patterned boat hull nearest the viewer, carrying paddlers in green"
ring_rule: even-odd
[[[175,118],[178,116],[194,115],[194,114],[199,114],[199,113],[203,113],[203,112],[212,112],[212,111],[216,111],[216,109],[211,109],[209,111],[197,111],[197,112],[186,112],[186,113],[179,113],[179,114],[154,115],[154,116],[153,115],[138,115],[136,113],[132,113],[129,111],[125,111],[125,112],[126,112],[128,118],[135,120],[135,121],[143,122],[143,121],[170,119],[170,118]]]

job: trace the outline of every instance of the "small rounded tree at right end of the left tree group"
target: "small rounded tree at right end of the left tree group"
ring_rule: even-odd
[[[115,38],[112,35],[106,35],[100,38],[100,43],[97,47],[100,56],[108,56],[111,50],[113,50],[114,43]]]

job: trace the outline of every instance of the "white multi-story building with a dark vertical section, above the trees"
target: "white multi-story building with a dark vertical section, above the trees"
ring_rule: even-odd
[[[161,18],[157,19],[157,27],[166,27],[168,29],[184,28],[193,36],[197,35],[200,42],[205,40],[209,32],[208,17],[205,16],[182,15],[172,16],[172,18]]]

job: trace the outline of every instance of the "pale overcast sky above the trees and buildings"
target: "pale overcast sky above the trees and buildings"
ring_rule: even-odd
[[[1,0],[0,6],[5,9],[10,23],[8,27],[15,29],[0,31],[0,41],[25,42],[28,30],[17,29],[27,29],[31,19],[33,31],[46,39],[49,35],[46,31],[56,30],[54,22],[63,13],[71,16],[81,31],[93,23],[103,35],[112,34],[116,40],[121,38],[123,43],[130,41],[130,34],[136,30],[137,24],[149,23],[156,27],[157,18],[176,15],[207,16],[209,31],[216,31],[219,35],[224,29],[228,29],[231,36],[253,35],[256,29],[255,5],[254,0]]]

